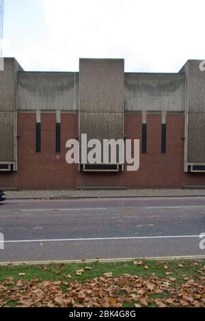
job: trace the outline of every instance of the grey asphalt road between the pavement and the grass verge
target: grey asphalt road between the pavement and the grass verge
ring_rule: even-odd
[[[205,198],[8,200],[0,262],[205,257]]]

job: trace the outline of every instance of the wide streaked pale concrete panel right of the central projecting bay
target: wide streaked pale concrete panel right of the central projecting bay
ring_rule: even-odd
[[[126,112],[183,112],[185,75],[178,73],[126,73]]]

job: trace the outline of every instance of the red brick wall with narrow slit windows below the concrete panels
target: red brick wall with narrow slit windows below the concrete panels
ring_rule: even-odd
[[[126,114],[124,132],[141,141],[142,117]],[[78,115],[61,115],[61,154],[55,154],[55,114],[42,113],[42,153],[36,154],[36,114],[18,114],[18,171],[0,173],[0,187],[74,189],[74,187],[171,188],[205,185],[205,174],[184,174],[184,115],[167,115],[167,154],[161,154],[161,115],[148,115],[147,154],[139,171],[79,173],[66,163],[66,141],[78,135]]]

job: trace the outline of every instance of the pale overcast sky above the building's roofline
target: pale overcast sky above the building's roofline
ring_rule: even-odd
[[[204,27],[204,0],[5,0],[3,56],[26,71],[124,58],[125,71],[178,72],[205,59]]]

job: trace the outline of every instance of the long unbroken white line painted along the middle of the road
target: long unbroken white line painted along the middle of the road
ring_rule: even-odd
[[[4,243],[44,243],[44,242],[68,242],[68,241],[120,241],[135,239],[195,239],[200,235],[175,235],[175,236],[156,236],[156,237],[99,237],[85,239],[27,239],[27,240],[11,240]]]

